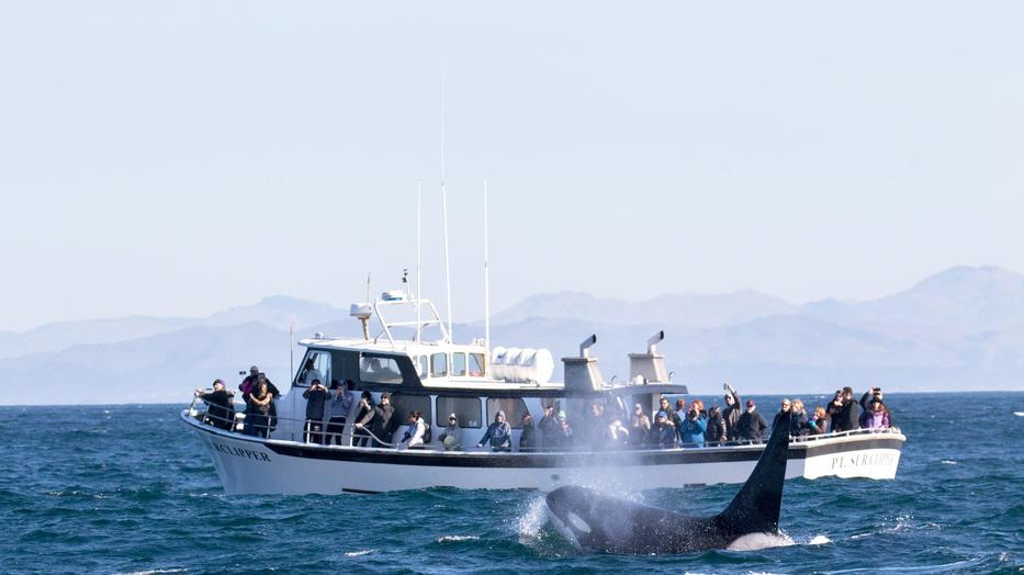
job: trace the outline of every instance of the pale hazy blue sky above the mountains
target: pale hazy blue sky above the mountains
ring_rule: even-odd
[[[0,329],[1024,271],[1021,2],[3,2]]]

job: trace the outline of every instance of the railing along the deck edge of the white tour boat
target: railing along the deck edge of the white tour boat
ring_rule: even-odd
[[[267,417],[266,424],[260,424],[251,419],[247,420],[245,414],[245,404],[240,402],[233,403],[233,410],[228,411],[228,416],[220,415],[218,411],[224,409],[214,409],[214,413],[211,413],[210,406],[201,397],[194,397],[191,405],[189,405],[189,416],[196,421],[200,421],[204,425],[210,425],[216,427],[224,431],[228,432],[240,432],[244,435],[262,437],[265,439],[274,439],[271,433],[280,426],[282,421],[297,424],[293,428],[302,428],[303,440],[306,443],[316,443],[316,444],[345,444],[345,442],[350,441],[351,447],[356,448],[396,448],[398,443],[383,441],[381,438],[378,438],[369,428],[361,428],[358,431],[349,429],[349,424],[345,424],[342,431],[334,432],[328,431],[328,422],[322,421],[322,430],[315,431],[311,429],[310,420],[303,418],[291,418],[282,416],[265,416]],[[807,435],[807,436],[790,436],[789,440],[791,444],[799,443],[813,443],[815,441],[822,441],[826,439],[837,439],[837,438],[848,438],[854,436],[866,436],[866,435],[900,435],[901,431],[899,428],[875,428],[875,429],[852,429],[848,431],[836,431],[828,433],[817,433],[817,435]],[[312,441],[313,438],[320,438],[322,441]],[[763,444],[767,438],[761,440],[731,440],[731,441],[705,441],[704,443],[694,443],[694,442],[679,442],[676,443],[673,448],[661,448],[657,446],[651,444],[641,444],[641,446],[630,446],[621,444],[616,447],[610,447],[607,449],[599,449],[597,451],[607,452],[607,451],[666,451],[672,449],[707,449],[707,448],[734,448],[734,447],[749,447],[749,446],[758,446]],[[358,442],[364,442],[364,446],[357,446]],[[437,450],[443,451],[443,448],[440,444],[437,446],[423,446],[416,447],[413,449],[425,449],[425,450]],[[475,448],[474,446],[466,446],[465,448],[460,449],[459,451],[486,451],[490,452],[491,448]],[[577,444],[577,446],[563,446],[555,449],[547,448],[537,448],[529,452],[593,452],[594,449],[590,449],[590,446]]]

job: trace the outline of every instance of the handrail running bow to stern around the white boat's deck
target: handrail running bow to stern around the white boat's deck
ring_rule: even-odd
[[[244,408],[244,407],[243,407],[243,409],[237,409],[237,408],[235,408],[236,405],[241,405],[241,406],[245,405],[245,404],[243,404],[243,403],[240,403],[240,402],[234,402],[234,401],[232,402],[232,409],[233,409],[234,413],[235,413],[235,417],[234,417],[234,418],[226,418],[226,417],[222,417],[222,416],[218,416],[218,415],[215,415],[215,414],[210,414],[210,413],[209,413],[209,411],[210,411],[209,405],[205,405],[206,408],[205,408],[204,410],[200,410],[200,409],[196,408],[198,404],[204,404],[204,405],[205,405],[205,402],[203,402],[200,397],[193,397],[192,403],[189,405],[189,415],[190,415],[190,417],[192,417],[192,418],[194,418],[194,419],[196,419],[196,420],[199,420],[199,421],[201,421],[201,422],[203,422],[203,424],[212,425],[212,426],[217,427],[217,428],[220,428],[220,429],[224,429],[225,431],[228,431],[228,432],[238,432],[238,431],[243,431],[244,429],[247,429],[247,428],[248,428],[248,429],[251,429],[251,428],[266,429],[266,431],[267,431],[267,437],[266,437],[266,439],[271,439],[271,438],[269,437],[270,433],[273,432],[273,430],[277,429],[277,427],[278,427],[277,425],[270,425],[269,421],[268,421],[268,424],[266,424],[266,425],[260,425],[260,424],[255,424],[255,422],[251,422],[251,421],[246,421],[245,408]],[[270,418],[270,416],[267,416],[267,417],[268,417],[268,419]],[[297,419],[297,418],[282,417],[282,416],[274,416],[273,418],[277,420],[277,422],[280,422],[280,421],[293,421],[293,422],[302,424],[303,437],[305,438],[304,442],[305,442],[305,443],[310,443],[310,444],[319,444],[319,446],[325,446],[325,447],[335,446],[335,444],[336,444],[335,438],[337,438],[337,440],[338,440],[337,442],[340,443],[341,438],[344,438],[344,437],[346,436],[346,433],[348,433],[349,437],[350,437],[351,440],[352,440],[352,443],[355,443],[355,442],[356,442],[357,440],[359,440],[359,439],[367,438],[367,437],[369,437],[370,439],[374,440],[375,443],[372,444],[372,446],[369,446],[369,447],[361,447],[361,446],[356,446],[356,444],[351,444],[351,446],[338,446],[338,447],[351,447],[351,448],[356,448],[356,449],[380,449],[381,447],[385,447],[385,448],[396,448],[396,447],[400,447],[400,443],[392,443],[392,442],[386,442],[386,441],[381,440],[381,438],[376,437],[376,436],[375,436],[369,428],[367,428],[367,427],[360,428],[358,431],[357,431],[357,428],[355,428],[355,427],[352,427],[351,430],[349,430],[349,426],[355,426],[356,424],[346,422],[346,424],[345,424],[345,428],[342,429],[341,432],[334,432],[334,431],[330,431],[330,432],[329,432],[329,431],[327,431],[327,424],[328,424],[328,421],[323,421],[323,424],[324,424],[324,429],[323,429],[322,431],[316,431],[316,432],[314,432],[314,431],[312,431],[312,430],[308,429],[308,420],[305,419],[305,418]],[[225,425],[225,426],[227,427],[227,429],[225,429],[224,427],[221,427],[221,426],[215,425],[215,422],[221,422],[221,424]],[[357,432],[359,433],[358,436],[356,435]],[[314,442],[310,441],[308,438],[310,438],[311,436],[314,436],[314,435],[315,435],[315,436],[323,437],[324,440],[326,441],[326,443],[314,443]],[[865,428],[865,429],[851,429],[851,430],[847,430],[847,431],[829,432],[829,433],[820,433],[820,435],[790,436],[789,439],[790,439],[790,444],[800,444],[800,443],[804,443],[804,444],[806,444],[806,443],[810,443],[810,442],[814,442],[814,441],[821,441],[821,440],[825,440],[825,439],[836,439],[836,438],[846,438],[846,437],[853,437],[853,436],[868,436],[868,435],[902,435],[902,431],[901,431],[899,428],[896,428],[896,427],[889,427],[889,428],[873,428],[873,429],[866,429],[866,428]],[[261,436],[261,435],[259,435],[259,433],[254,433],[254,436],[255,436],[255,437],[263,437],[263,436]],[[686,443],[682,443],[682,442],[680,442],[680,443],[677,443],[675,447],[672,447],[672,448],[659,448],[659,447],[656,447],[656,446],[650,446],[650,444],[642,444],[642,446],[635,446],[635,447],[634,447],[634,446],[630,446],[630,444],[622,444],[622,446],[609,446],[609,447],[606,448],[606,449],[593,449],[592,446],[587,446],[587,444],[577,444],[577,446],[563,446],[563,447],[559,447],[559,448],[556,448],[556,449],[538,447],[538,448],[532,449],[532,450],[528,450],[528,451],[518,451],[518,452],[519,452],[519,453],[551,453],[551,452],[579,453],[579,452],[611,452],[611,451],[627,451],[627,452],[657,451],[657,452],[664,452],[664,451],[674,451],[674,450],[684,450],[684,449],[685,449],[685,450],[694,450],[694,449],[702,449],[702,450],[706,450],[706,449],[722,449],[722,448],[729,449],[729,448],[736,448],[736,447],[757,447],[757,446],[763,446],[763,444],[765,444],[765,441],[766,441],[766,440],[767,440],[767,438],[763,438],[763,439],[761,439],[761,440],[705,441],[704,444],[697,444],[697,443],[694,443],[694,442],[686,442]],[[428,446],[428,447],[429,447],[429,446]],[[471,449],[468,449],[468,450],[461,450],[461,451],[459,451],[459,452],[465,452],[465,451],[486,451],[486,452],[490,452],[491,450],[490,450],[490,448],[484,447],[484,448],[476,448],[475,450],[471,448]],[[440,450],[439,450],[439,452],[446,453],[447,451],[440,451]]]

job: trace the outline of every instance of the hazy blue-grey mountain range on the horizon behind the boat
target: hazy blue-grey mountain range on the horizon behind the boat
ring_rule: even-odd
[[[132,316],[0,332],[0,403],[181,403],[192,387],[237,379],[251,363],[285,383],[290,325],[296,339],[359,332],[348,309],[284,296],[206,318]],[[697,393],[718,394],[727,380],[762,393],[847,384],[1024,390],[1024,275],[991,267],[954,268],[864,302],[795,305],[753,291],[643,302],[538,294],[493,317],[492,341],[562,357],[597,334],[595,354],[610,380],[628,376],[626,353],[642,351],[660,329],[674,380]],[[455,326],[458,340],[482,331],[480,323]]]

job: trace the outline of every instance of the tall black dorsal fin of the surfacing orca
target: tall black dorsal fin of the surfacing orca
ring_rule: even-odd
[[[789,459],[789,419],[785,414],[775,421],[772,437],[757,460],[754,471],[729,507],[716,519],[738,534],[778,531],[778,515],[783,506],[783,484]]]

